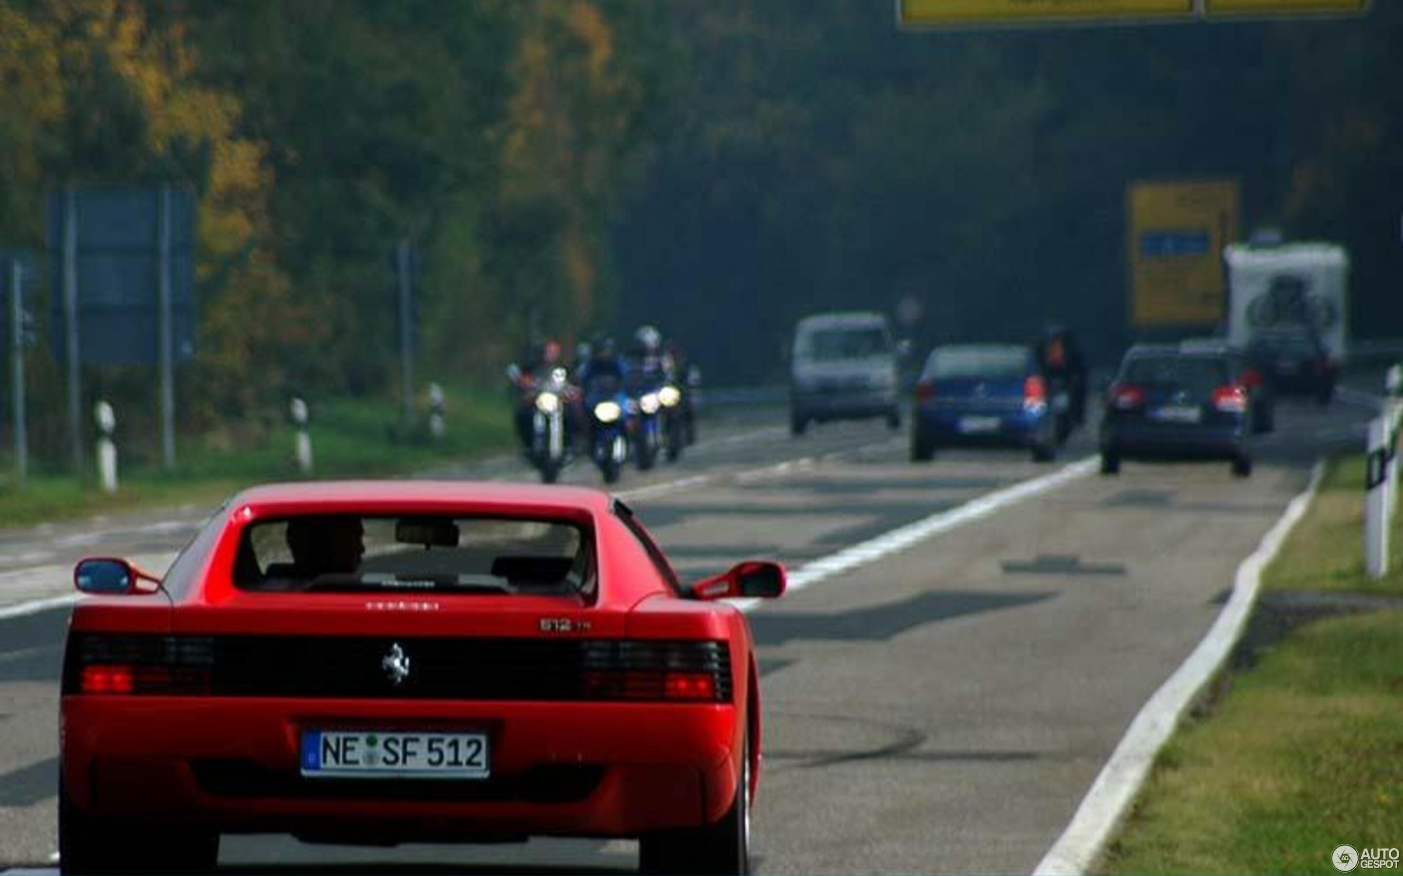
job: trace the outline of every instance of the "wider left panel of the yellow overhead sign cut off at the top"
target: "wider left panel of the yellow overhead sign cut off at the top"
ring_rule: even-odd
[[[897,0],[897,21],[908,27],[1193,17],[1194,0]]]

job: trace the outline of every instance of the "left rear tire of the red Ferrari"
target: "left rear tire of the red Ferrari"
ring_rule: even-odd
[[[59,779],[60,873],[208,873],[217,863],[219,834],[94,819],[69,802]]]

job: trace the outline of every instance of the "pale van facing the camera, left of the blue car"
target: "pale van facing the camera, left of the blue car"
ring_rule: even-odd
[[[831,313],[800,320],[790,369],[790,432],[812,420],[882,416],[901,427],[897,345],[878,313]]]

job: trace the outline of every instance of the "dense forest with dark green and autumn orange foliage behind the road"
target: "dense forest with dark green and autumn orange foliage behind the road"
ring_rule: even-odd
[[[1146,178],[1235,177],[1249,227],[1345,242],[1354,334],[1396,336],[1399,46],[1382,3],[939,34],[870,0],[0,0],[0,248],[43,254],[56,185],[192,186],[185,429],[391,392],[401,238],[428,374],[652,321],[714,381],[767,380],[801,313],[904,297],[920,343],[1058,320],[1110,357]],[[38,336],[35,420],[59,434]]]

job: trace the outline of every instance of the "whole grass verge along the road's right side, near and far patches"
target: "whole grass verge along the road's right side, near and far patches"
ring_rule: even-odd
[[[1264,586],[1389,593],[1362,572],[1362,463],[1333,464]],[[1403,845],[1400,634],[1403,611],[1322,620],[1219,678],[1160,751],[1099,872],[1334,873],[1337,845]]]

